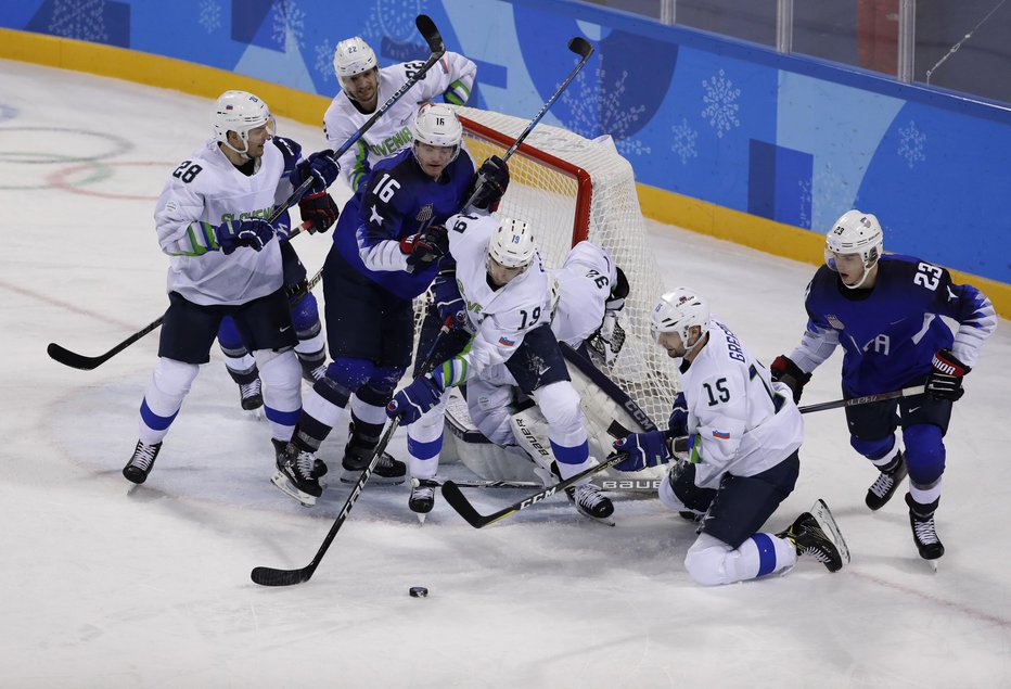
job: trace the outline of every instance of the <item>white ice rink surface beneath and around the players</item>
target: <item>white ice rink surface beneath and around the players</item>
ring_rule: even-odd
[[[46,355],[105,352],[164,311],[154,201],[209,106],[0,61],[0,687],[1011,687],[1007,320],[955,405],[936,574],[901,494],[863,506],[876,474],[833,410],[806,417],[801,480],[768,527],[824,498],[853,552],[837,574],[805,559],[699,587],[693,527],[654,499],[617,497],[614,528],[552,498],[476,531],[440,499],[420,527],[407,487],[368,486],[310,582],[253,584],[256,565],[309,562],[347,487],[307,510],[270,485],[267,426],[217,352],[132,487],[120,470],[157,335],[90,372]],[[315,128],[279,129],[322,148]],[[814,266],[650,232],[668,286],[707,295],[757,356],[795,345]],[[315,271],[329,235],[296,241]],[[839,397],[839,361],[805,403]],[[343,442],[323,446],[332,467]],[[524,493],[468,495],[487,512]]]

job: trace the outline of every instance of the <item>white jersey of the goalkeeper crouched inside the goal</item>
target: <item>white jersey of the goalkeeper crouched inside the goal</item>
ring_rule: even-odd
[[[591,242],[576,244],[561,268],[548,273],[558,283],[551,330],[559,342],[578,349],[600,328],[617,267],[606,251]]]

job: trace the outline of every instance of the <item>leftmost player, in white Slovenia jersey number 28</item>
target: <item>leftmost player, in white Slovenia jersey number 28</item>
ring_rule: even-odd
[[[155,208],[158,243],[171,257],[169,306],[140,408],[140,439],[123,470],[133,483],[148,479],[226,316],[243,333],[263,377],[276,451],[287,444],[302,406],[278,245],[290,221],[286,213],[272,222],[266,218],[306,179],[313,180],[307,193],[325,192],[337,166],[329,153],[287,161],[271,141],[267,104],[252,93],[226,91],[212,123],[214,138],[172,171]]]

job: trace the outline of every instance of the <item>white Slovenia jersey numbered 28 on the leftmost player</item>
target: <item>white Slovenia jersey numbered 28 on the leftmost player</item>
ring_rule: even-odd
[[[171,256],[169,292],[203,306],[244,304],[281,288],[281,250],[271,240],[263,251],[236,248],[194,251],[193,235],[209,232],[230,219],[268,218],[273,206],[292,193],[284,175],[284,156],[264,146],[256,171],[239,171],[212,139],[169,177],[155,206],[154,221],[162,251]]]

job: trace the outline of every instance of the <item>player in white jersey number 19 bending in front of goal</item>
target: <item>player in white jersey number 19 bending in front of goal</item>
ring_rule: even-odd
[[[473,408],[478,398],[494,393],[497,385],[514,381],[537,401],[547,419],[551,450],[562,477],[567,479],[592,462],[579,395],[572,386],[549,326],[551,289],[532,228],[523,220],[471,215],[450,218],[449,227],[455,281],[466,305],[465,324],[475,334],[468,349],[445,361],[432,374],[415,379],[394,395],[387,408],[387,413],[399,417],[405,425],[424,419],[422,423],[435,430],[435,439],[428,442],[428,447],[423,446],[423,437],[411,441],[412,471],[418,472],[415,479],[421,479],[411,500],[415,512],[432,509],[437,463],[430,461],[425,465],[424,461],[413,459],[437,457],[445,394],[450,386],[465,383]],[[496,379],[497,375],[501,379]],[[504,432],[511,434],[508,426]],[[495,433],[489,439],[502,441],[494,436]],[[426,494],[421,493],[424,488],[428,489]],[[567,493],[587,516],[606,520],[614,511],[611,500],[589,481]]]

